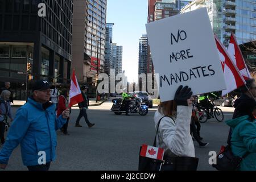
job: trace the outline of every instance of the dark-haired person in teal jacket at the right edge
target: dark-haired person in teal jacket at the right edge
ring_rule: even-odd
[[[226,121],[232,128],[231,148],[235,156],[249,154],[241,162],[240,171],[256,171],[256,102],[241,102],[236,109],[240,110],[237,118]]]

